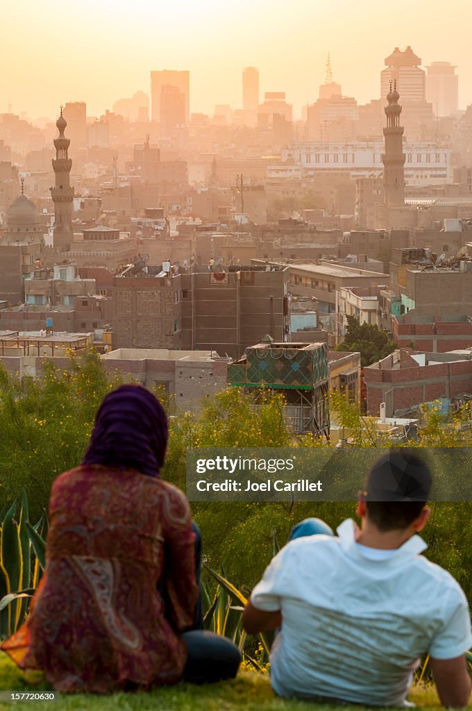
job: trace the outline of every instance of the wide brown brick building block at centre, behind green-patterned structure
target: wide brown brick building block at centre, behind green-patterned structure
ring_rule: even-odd
[[[238,358],[266,333],[288,341],[288,282],[283,265],[181,273],[145,267],[115,277],[114,348],[214,350]]]

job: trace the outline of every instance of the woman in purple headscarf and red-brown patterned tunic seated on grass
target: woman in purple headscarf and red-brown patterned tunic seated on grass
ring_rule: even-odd
[[[167,437],[159,400],[123,385],[104,398],[81,466],[54,482],[45,575],[26,623],[1,648],[59,691],[237,672],[229,640],[186,631],[195,628],[200,541],[186,497],[159,478]]]

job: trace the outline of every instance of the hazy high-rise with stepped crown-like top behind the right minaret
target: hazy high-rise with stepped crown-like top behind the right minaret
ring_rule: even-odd
[[[385,58],[387,68],[380,73],[380,96],[385,97],[389,92],[390,82],[396,82],[405,105],[424,102],[425,73],[419,68],[421,63],[421,58],[414,54],[411,47],[407,47],[404,52],[395,47],[390,57]]]

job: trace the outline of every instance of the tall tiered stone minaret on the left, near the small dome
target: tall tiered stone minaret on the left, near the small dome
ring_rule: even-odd
[[[70,169],[72,159],[68,156],[70,139],[64,135],[67,121],[63,117],[63,107],[60,107],[60,117],[55,122],[59,129],[58,138],[54,139],[55,159],[53,170],[55,173],[55,187],[50,188],[54,203],[54,247],[68,247],[73,240],[72,229],[72,203],[74,188],[70,187]]]

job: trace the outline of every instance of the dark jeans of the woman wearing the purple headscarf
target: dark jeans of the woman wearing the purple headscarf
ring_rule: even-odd
[[[195,579],[200,587],[202,540],[198,526],[193,522],[195,533]],[[195,606],[192,629],[182,634],[187,646],[187,663],[183,680],[193,684],[213,683],[235,678],[241,663],[241,653],[227,637],[203,629],[201,593]]]

